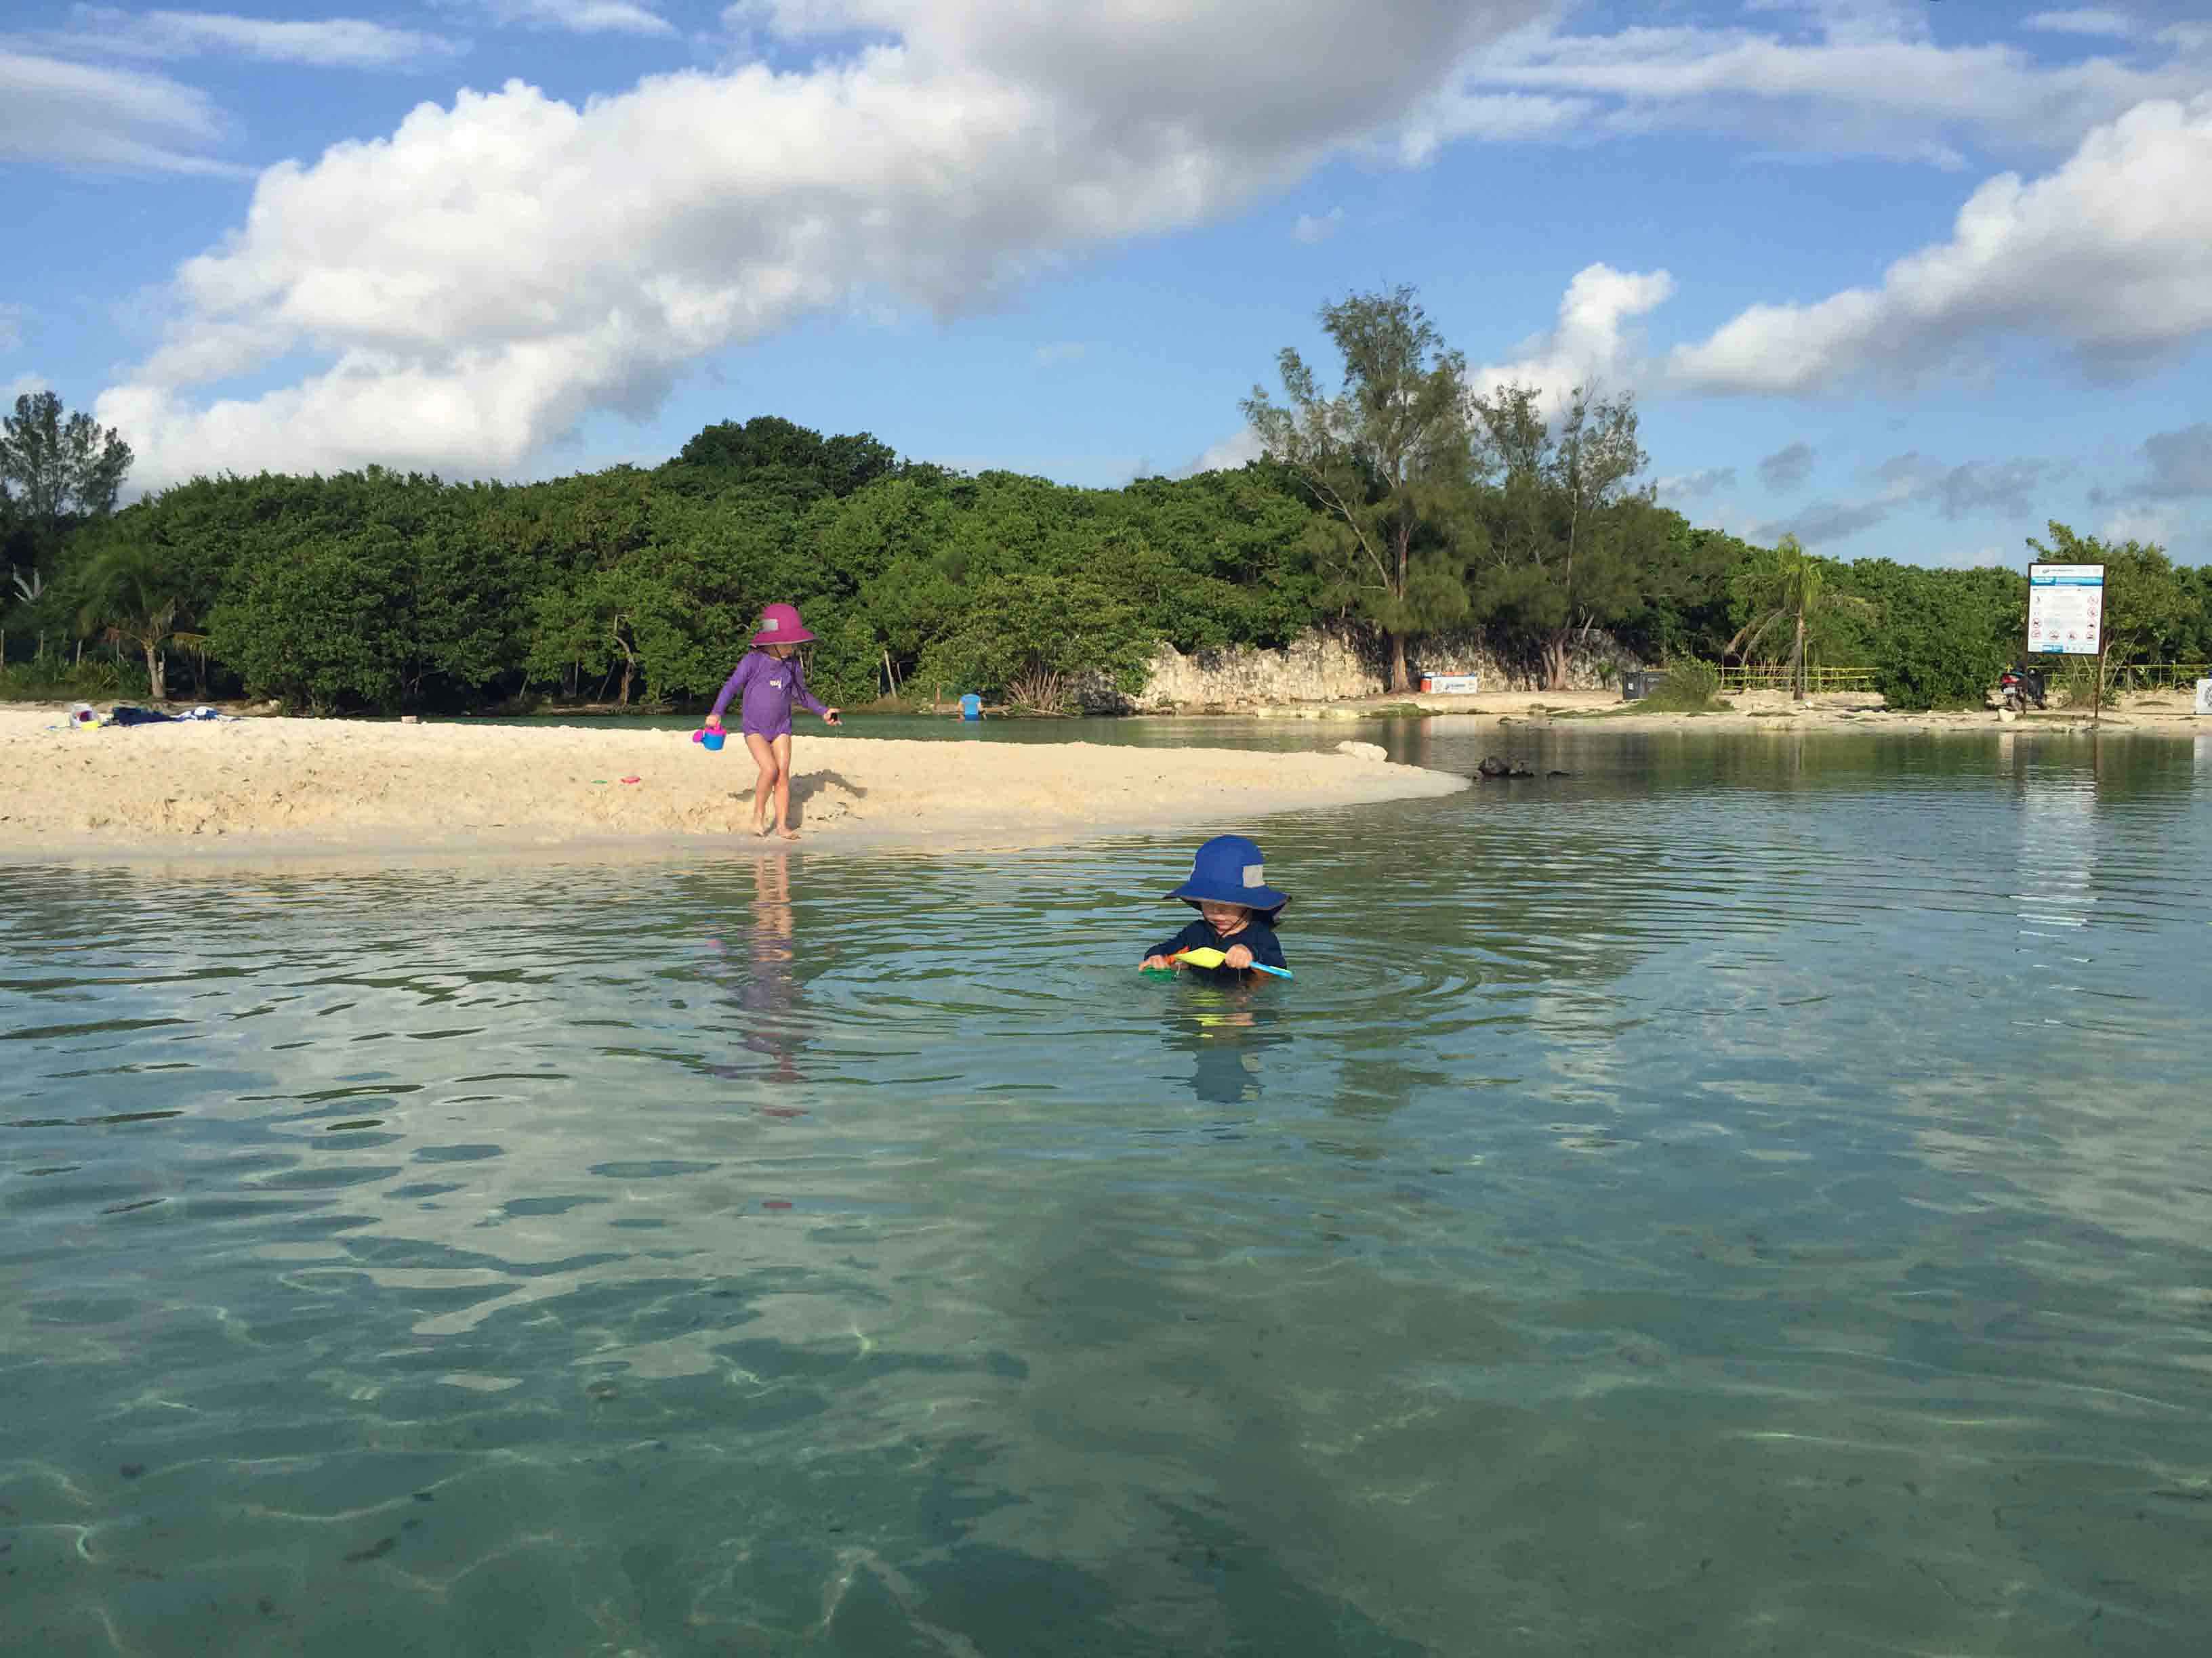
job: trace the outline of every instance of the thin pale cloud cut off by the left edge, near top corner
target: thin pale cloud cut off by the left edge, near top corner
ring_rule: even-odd
[[[195,153],[221,130],[215,104],[166,75],[0,49],[0,161],[241,172]]]

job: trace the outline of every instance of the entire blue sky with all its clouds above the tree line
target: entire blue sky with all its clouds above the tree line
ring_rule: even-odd
[[[2212,24],[1975,0],[438,0],[0,31],[0,391],[139,486],[538,478],[783,413],[1250,453],[1316,307],[1635,391],[1697,522],[2212,562]]]

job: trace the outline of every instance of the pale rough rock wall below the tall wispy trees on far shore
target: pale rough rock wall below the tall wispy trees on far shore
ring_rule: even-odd
[[[1641,668],[1608,634],[1590,634],[1588,650],[1568,659],[1568,690],[1619,683],[1619,674]],[[1537,690],[1535,663],[1509,663],[1480,634],[1438,634],[1407,646],[1407,670],[1416,688],[1422,674],[1482,674],[1484,690]],[[1371,639],[1349,630],[1316,628],[1281,650],[1225,646],[1179,652],[1161,646],[1146,665],[1144,690],[1119,692],[1088,681],[1079,696],[1099,714],[1166,714],[1172,710],[1254,707],[1261,703],[1343,703],[1383,696],[1389,690],[1389,659]]]

